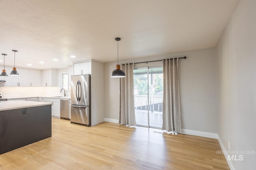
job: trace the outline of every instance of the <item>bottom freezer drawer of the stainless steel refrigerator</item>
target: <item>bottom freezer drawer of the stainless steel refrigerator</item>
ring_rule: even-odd
[[[71,105],[70,122],[90,126],[90,107]]]

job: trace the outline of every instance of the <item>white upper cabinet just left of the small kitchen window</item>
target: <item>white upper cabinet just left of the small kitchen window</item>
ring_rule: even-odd
[[[42,86],[58,86],[58,70],[42,70]]]

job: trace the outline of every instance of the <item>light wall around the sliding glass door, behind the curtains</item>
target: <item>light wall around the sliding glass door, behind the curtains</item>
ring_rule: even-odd
[[[144,57],[120,63],[184,56],[188,58],[179,60],[182,129],[217,133],[215,48]],[[162,65],[162,62],[144,63],[139,66],[149,65]],[[138,64],[134,66],[138,67]],[[104,108],[107,119],[119,119],[119,78],[110,77],[115,67],[116,62],[105,63]]]

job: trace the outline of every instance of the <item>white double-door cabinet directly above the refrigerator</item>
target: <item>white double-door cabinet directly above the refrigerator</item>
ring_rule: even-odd
[[[75,75],[83,75],[83,74],[91,74],[91,73],[92,73],[91,61],[74,64],[74,76]]]

